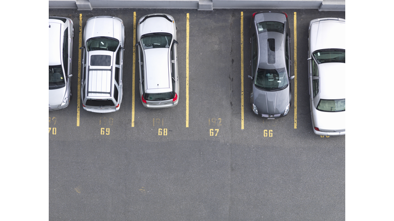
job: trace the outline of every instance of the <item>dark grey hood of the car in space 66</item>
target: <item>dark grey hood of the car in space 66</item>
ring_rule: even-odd
[[[289,104],[290,86],[281,91],[262,91],[253,86],[253,103],[259,114],[283,114]]]

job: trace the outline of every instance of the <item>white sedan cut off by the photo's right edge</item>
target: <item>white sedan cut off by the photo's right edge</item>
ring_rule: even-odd
[[[311,20],[308,47],[313,132],[345,135],[345,19]]]

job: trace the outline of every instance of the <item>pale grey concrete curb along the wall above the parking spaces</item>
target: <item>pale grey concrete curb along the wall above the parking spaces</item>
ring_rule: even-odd
[[[49,8],[319,9],[345,11],[345,0],[49,0]]]

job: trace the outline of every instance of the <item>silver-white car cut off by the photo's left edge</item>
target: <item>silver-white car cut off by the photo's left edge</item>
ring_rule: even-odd
[[[74,26],[70,18],[49,17],[49,111],[71,99],[71,57]]]

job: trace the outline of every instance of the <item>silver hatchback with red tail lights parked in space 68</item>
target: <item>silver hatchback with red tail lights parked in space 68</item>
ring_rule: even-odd
[[[149,14],[137,26],[140,96],[148,108],[173,107],[179,102],[175,20],[168,14]]]

